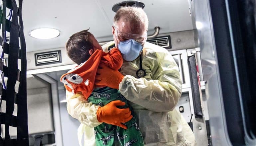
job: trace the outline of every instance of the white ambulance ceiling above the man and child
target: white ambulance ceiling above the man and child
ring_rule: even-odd
[[[23,1],[24,34],[27,51],[63,47],[73,33],[90,28],[98,41],[112,39],[112,6],[122,0],[26,0]],[[141,0],[149,19],[149,35],[192,30],[188,0]],[[29,36],[40,27],[61,31],[57,38],[41,40]]]

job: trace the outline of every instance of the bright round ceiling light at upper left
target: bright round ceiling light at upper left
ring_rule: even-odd
[[[30,31],[29,35],[38,39],[51,39],[60,36],[60,31],[53,28],[39,28]]]

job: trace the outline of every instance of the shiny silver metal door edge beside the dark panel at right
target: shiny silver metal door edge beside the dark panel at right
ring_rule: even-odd
[[[190,1],[189,6],[192,8],[192,20],[193,26],[195,21],[199,21],[203,24],[202,29],[197,30],[198,39],[200,40],[200,53],[201,59],[208,59],[216,64],[212,64],[213,73],[209,79],[207,79],[207,87],[205,92],[207,93],[208,110],[209,110],[209,122],[212,136],[213,145],[225,145],[231,146],[230,139],[227,134],[227,126],[225,123],[225,113],[223,106],[223,97],[221,93],[221,84],[219,80],[218,61],[216,57],[216,45],[213,32],[212,16],[210,10],[209,0],[206,1]],[[204,70],[204,68],[203,68]],[[218,108],[216,108],[216,105]]]

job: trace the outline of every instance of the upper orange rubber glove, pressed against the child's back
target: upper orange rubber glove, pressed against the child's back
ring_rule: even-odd
[[[113,89],[118,89],[123,78],[124,76],[118,70],[113,70],[100,64],[95,76],[94,84],[97,86],[107,86]]]

